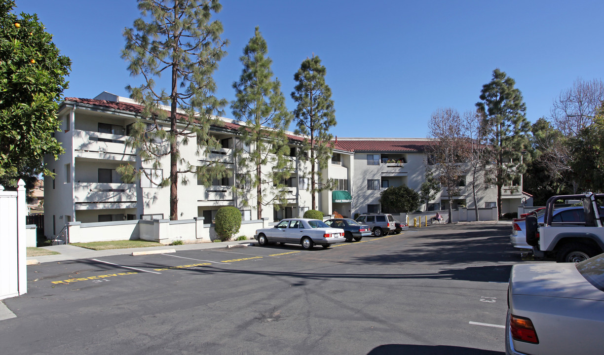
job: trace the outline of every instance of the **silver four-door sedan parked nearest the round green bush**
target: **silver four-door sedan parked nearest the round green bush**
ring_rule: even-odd
[[[342,229],[331,228],[318,219],[289,218],[281,220],[273,228],[257,229],[254,239],[259,245],[268,243],[300,244],[304,249],[316,245],[329,248],[335,243],[345,241]]]

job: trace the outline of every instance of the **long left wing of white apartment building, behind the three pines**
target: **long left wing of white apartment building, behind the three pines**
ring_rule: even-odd
[[[94,99],[66,98],[59,108],[62,120],[60,131],[55,133],[65,154],[58,160],[47,156],[45,163],[56,178],[45,178],[45,234],[50,237],[60,233],[68,222],[111,222],[137,219],[169,218],[169,188],[158,188],[141,176],[140,181],[125,184],[116,168],[132,164],[147,168],[137,152],[129,147],[129,126],[140,115],[143,107],[133,100],[103,92]],[[196,146],[181,146],[182,158],[194,164],[204,165],[219,161],[231,170],[229,178],[216,179],[210,187],[195,184],[194,174],[188,176],[189,184],[178,186],[179,220],[204,217],[210,223],[222,206],[240,209],[244,220],[256,219],[255,189],[243,189],[235,193],[237,181],[237,157],[235,144],[240,144],[240,123],[220,118],[222,125],[212,127],[211,134],[219,139],[222,148],[196,155]],[[169,123],[166,122],[168,126]],[[281,209],[263,207],[263,218],[278,220],[298,217],[310,209],[310,193],[306,190],[309,179],[303,176],[308,163],[298,157],[303,137],[288,134],[291,147],[291,178],[286,181],[288,203]],[[169,157],[162,160],[159,176],[169,174]],[[271,168],[271,167],[266,167]],[[339,174],[347,175],[341,171]],[[268,193],[268,192],[267,192]],[[265,200],[271,196],[265,196]],[[321,203],[321,196],[317,196]],[[327,203],[329,208],[330,203]]]

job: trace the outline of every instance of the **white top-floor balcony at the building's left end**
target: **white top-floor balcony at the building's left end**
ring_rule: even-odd
[[[76,158],[136,160],[136,150],[126,145],[128,136],[76,129],[73,138]]]

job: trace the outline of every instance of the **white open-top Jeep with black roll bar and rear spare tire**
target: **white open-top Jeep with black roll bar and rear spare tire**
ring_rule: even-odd
[[[581,200],[584,216],[556,219],[552,216],[557,200]],[[581,218],[584,217],[584,218]],[[535,215],[526,218],[528,245],[535,258],[556,258],[558,263],[578,263],[604,252],[604,194],[552,196],[545,206],[544,222]]]

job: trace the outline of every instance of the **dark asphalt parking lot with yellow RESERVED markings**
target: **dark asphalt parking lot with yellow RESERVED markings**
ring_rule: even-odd
[[[7,354],[503,354],[509,224],[28,267]]]

